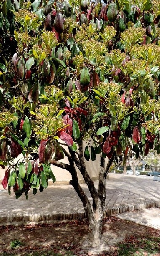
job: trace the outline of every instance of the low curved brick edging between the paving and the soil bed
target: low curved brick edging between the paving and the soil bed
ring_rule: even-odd
[[[131,212],[134,210],[145,209],[145,208],[160,208],[160,201],[148,201],[144,204],[135,205],[121,205],[117,207],[109,207],[104,210],[104,217],[115,215],[123,212]],[[53,213],[53,214],[21,214],[0,216],[0,226],[21,226],[38,223],[58,223],[62,221],[71,221],[78,219],[85,219],[85,212],[77,213]]]

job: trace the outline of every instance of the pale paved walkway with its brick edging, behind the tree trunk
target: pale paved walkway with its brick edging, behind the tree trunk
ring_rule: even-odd
[[[97,188],[98,182],[94,183]],[[81,186],[91,199],[86,185]],[[106,192],[104,216],[149,207],[160,208],[160,182],[153,181],[150,176],[109,173]],[[156,211],[156,215],[160,217],[160,209]],[[129,212],[127,214],[130,215]],[[71,185],[49,186],[43,193],[37,192],[36,195],[29,191],[28,201],[25,195],[16,199],[13,191],[9,196],[8,191],[0,187],[0,225],[50,223],[84,217],[83,204]],[[141,217],[144,218],[143,222],[147,221],[145,212],[141,212]]]

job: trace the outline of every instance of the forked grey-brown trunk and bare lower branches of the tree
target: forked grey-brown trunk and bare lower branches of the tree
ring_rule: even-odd
[[[63,149],[63,151],[64,154],[68,157],[69,165],[63,164],[61,162],[56,162],[54,160],[51,160],[51,163],[61,168],[65,168],[71,173],[72,180],[70,181],[70,184],[72,184],[72,186],[75,188],[75,191],[77,192],[80,200],[83,203],[89,223],[88,235],[85,241],[83,241],[83,245],[87,247],[98,247],[101,243],[101,233],[103,226],[103,212],[106,199],[106,177],[109,168],[112,165],[113,157],[108,161],[108,164],[105,168],[105,159],[101,155],[99,185],[97,192],[94,186],[94,182],[91,180],[91,177],[89,176],[85,168],[82,143],[79,143],[79,153],[77,155],[71,149],[69,149],[69,153],[65,149]],[[84,190],[78,182],[75,165],[80,170],[81,174],[83,175],[83,179],[88,186],[93,201],[93,207],[91,207],[91,203],[87,195],[85,194]]]

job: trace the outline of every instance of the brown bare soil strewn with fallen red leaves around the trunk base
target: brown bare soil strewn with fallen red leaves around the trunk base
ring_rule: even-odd
[[[130,241],[133,244],[137,238],[160,237],[160,230],[142,226],[130,221],[120,220],[111,216],[104,220],[102,245],[98,249],[83,248],[88,232],[87,221],[77,220],[58,224],[37,224],[34,226],[1,226],[0,253],[13,253],[10,243],[17,239],[22,246],[15,252],[23,255],[25,252],[61,249],[71,250],[75,255],[117,256],[119,243]],[[146,254],[149,255],[149,254]],[[160,256],[160,253],[154,254]]]

